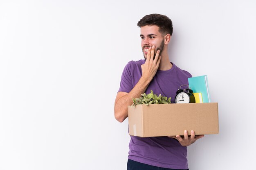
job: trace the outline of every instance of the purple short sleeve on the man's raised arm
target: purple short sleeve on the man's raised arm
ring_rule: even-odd
[[[132,69],[130,62],[125,66],[121,76],[120,88],[118,92],[129,93],[133,89],[132,85]]]

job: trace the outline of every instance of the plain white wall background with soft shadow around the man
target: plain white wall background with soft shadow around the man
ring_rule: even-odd
[[[188,147],[190,170],[255,167],[253,0],[0,0],[0,170],[125,170],[121,73],[142,59],[137,22],[173,21],[170,60],[208,76],[218,135]]]

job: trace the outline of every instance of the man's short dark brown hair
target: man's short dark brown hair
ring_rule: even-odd
[[[156,25],[159,26],[159,33],[164,34],[173,34],[173,22],[170,18],[165,15],[153,13],[146,15],[141,20],[139,20],[137,26],[146,26],[146,25]]]

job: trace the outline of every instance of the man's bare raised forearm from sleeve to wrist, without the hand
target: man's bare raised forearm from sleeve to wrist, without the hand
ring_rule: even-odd
[[[141,77],[135,87],[133,87],[128,94],[117,100],[115,103],[115,118],[119,122],[123,122],[128,117],[127,106],[132,105],[132,98],[139,98],[141,94],[146,91],[149,83],[150,80]]]

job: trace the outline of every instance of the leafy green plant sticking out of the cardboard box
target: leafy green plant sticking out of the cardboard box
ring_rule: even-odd
[[[132,106],[135,105],[150,105],[150,104],[168,104],[171,103],[171,98],[168,98],[166,96],[162,96],[159,94],[153,93],[153,90],[150,90],[150,93],[146,95],[146,93],[141,94],[140,98],[132,98],[133,104]]]

